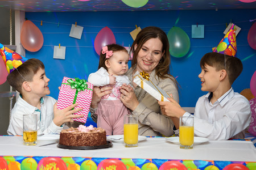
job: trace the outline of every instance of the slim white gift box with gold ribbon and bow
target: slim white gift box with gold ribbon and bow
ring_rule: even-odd
[[[149,77],[150,76],[147,73],[141,72],[134,76],[133,82],[143,88],[143,90],[148,92],[148,94],[153,96],[156,100],[169,101],[167,98],[171,98],[170,95],[168,95],[162,88],[152,83]]]

